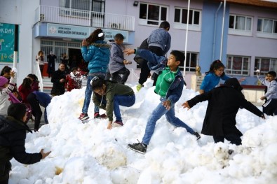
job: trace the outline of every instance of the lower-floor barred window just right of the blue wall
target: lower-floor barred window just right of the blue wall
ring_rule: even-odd
[[[234,76],[249,76],[250,57],[245,56],[227,56],[227,66],[225,72]]]

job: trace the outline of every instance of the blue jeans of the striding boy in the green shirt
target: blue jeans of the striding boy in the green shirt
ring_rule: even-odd
[[[171,125],[174,125],[175,127],[183,127],[187,129],[187,132],[194,134],[194,130],[191,129],[187,124],[182,122],[179,118],[175,117],[175,104],[170,105],[170,109],[166,110],[166,108],[163,106],[163,101],[166,99],[161,98],[161,103],[158,104],[158,106],[154,109],[154,111],[151,113],[147,125],[145,127],[145,133],[142,138],[142,143],[148,145],[151,139],[151,136],[154,134],[154,129],[156,126],[156,122],[161,118],[162,115],[165,115],[166,120],[170,122]]]

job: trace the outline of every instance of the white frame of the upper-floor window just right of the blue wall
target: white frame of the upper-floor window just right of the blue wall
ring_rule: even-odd
[[[233,27],[230,27],[231,24],[231,17],[234,17],[234,22],[233,22]],[[245,17],[245,22],[244,22],[244,29],[238,29],[236,28],[237,24],[236,22],[238,21],[239,17]],[[250,19],[250,30],[247,29],[247,24],[248,24],[248,19]],[[234,35],[241,35],[241,36],[252,36],[252,30],[253,30],[253,17],[252,16],[247,16],[247,15],[236,15],[236,14],[231,14],[229,15],[229,25],[228,25],[228,34],[234,34]]]

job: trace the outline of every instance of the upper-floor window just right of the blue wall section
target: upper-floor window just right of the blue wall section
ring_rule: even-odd
[[[230,15],[229,34],[252,36],[252,17]]]

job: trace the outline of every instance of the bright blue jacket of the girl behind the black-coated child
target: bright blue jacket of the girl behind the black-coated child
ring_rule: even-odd
[[[216,76],[213,72],[208,73],[201,83],[200,90],[204,90],[204,92],[212,90],[213,88],[215,88],[215,86],[218,85],[220,78],[222,80],[227,80],[229,77],[225,74],[219,77]]]

